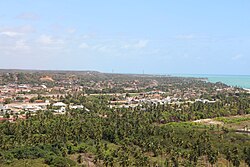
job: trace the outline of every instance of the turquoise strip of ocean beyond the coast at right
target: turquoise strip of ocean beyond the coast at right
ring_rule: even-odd
[[[207,78],[212,83],[222,82],[229,86],[250,89],[250,75],[177,74],[173,76]]]

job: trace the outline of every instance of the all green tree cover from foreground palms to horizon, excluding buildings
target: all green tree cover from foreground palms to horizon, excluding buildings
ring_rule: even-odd
[[[29,99],[31,103],[46,99],[52,103],[46,111],[27,112],[26,120],[0,123],[0,166],[32,162],[58,167],[250,165],[250,136],[230,128],[231,123],[244,121],[247,126],[249,117],[222,118],[250,114],[249,94],[241,88],[204,79],[93,71],[0,73],[3,89],[22,84],[31,91],[20,91],[20,96],[7,92],[5,104],[23,101],[27,94],[37,95]],[[49,89],[39,88],[42,84]],[[126,100],[131,92],[144,98],[151,91],[163,91],[161,98],[176,100],[109,107],[110,101]],[[119,94],[124,92],[125,96]],[[55,114],[57,101],[84,108],[67,107],[65,114]],[[1,114],[10,117],[7,112]],[[192,122],[206,118],[224,126]]]

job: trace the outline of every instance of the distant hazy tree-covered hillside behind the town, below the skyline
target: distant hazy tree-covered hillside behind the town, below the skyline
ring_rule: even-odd
[[[42,80],[48,77],[51,80]],[[96,93],[132,93],[141,91],[151,91],[159,89],[168,92],[169,89],[186,89],[187,87],[218,88],[227,87],[224,84],[204,84],[205,79],[139,75],[139,74],[110,74],[96,71],[32,71],[32,70],[0,70],[0,85],[7,84],[30,84],[39,86],[45,84],[49,88],[63,86],[69,88],[72,85],[82,86],[86,94]],[[134,85],[136,84],[136,85]],[[112,85],[112,86],[110,86]],[[170,86],[171,85],[171,86]],[[101,89],[100,89],[101,87]],[[133,90],[125,90],[126,87],[133,87]],[[55,91],[55,90],[52,90]],[[22,92],[23,93],[23,92]],[[29,94],[45,93],[40,91],[24,92]],[[56,91],[54,93],[65,93]]]

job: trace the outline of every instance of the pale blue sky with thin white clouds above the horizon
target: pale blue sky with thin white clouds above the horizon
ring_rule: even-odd
[[[249,0],[0,0],[0,69],[250,75]]]

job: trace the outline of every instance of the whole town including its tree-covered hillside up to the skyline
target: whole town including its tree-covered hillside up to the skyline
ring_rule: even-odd
[[[25,77],[33,80],[22,83]],[[130,76],[91,71],[14,71],[3,72],[0,78],[0,120],[10,121],[25,119],[27,113],[35,114],[37,111],[50,110],[54,114],[65,114],[67,109],[89,111],[79,101],[62,102],[68,94],[80,94],[85,97],[107,96],[110,108],[133,108],[142,104],[215,103],[220,100],[218,96],[221,94],[237,96],[246,92],[222,83],[207,83],[204,78]]]

